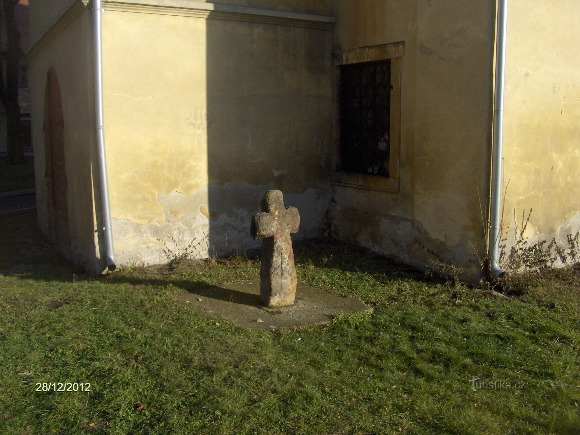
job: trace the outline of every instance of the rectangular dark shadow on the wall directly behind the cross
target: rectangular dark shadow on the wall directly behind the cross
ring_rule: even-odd
[[[321,234],[331,200],[332,32],[206,20],[210,256],[260,247],[250,220],[269,189]],[[197,241],[195,241],[197,243]]]

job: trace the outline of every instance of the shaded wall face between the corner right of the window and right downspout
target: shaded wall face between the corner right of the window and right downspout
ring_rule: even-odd
[[[415,218],[437,240],[483,242],[495,1],[418,2]]]

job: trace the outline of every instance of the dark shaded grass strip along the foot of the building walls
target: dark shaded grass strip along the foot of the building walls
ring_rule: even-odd
[[[38,229],[36,212],[0,216],[0,273],[38,281],[78,282],[103,280],[111,284],[152,285],[174,287],[184,291],[195,290],[198,294],[210,282],[188,280],[183,277],[191,271],[210,270],[211,267],[233,267],[248,262],[257,267],[260,251],[253,250],[238,256],[210,260],[176,260],[164,266],[133,267],[119,270],[108,276],[89,276],[59,253]],[[314,238],[293,242],[296,267],[336,269],[351,273],[366,273],[379,282],[413,280],[426,284],[443,283],[443,277],[427,275],[412,266],[331,238]],[[255,277],[258,279],[259,274]],[[219,291],[217,290],[219,289]],[[226,289],[214,289],[215,293],[230,300],[243,300],[243,295]],[[212,296],[214,297],[214,296]],[[224,299],[224,300],[226,300]]]

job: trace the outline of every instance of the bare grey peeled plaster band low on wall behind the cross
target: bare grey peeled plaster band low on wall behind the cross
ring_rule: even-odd
[[[118,264],[161,264],[186,252],[189,258],[208,258],[258,248],[261,242],[249,235],[250,220],[269,189],[274,185],[235,182],[209,184],[191,195],[158,194],[162,226],[113,219]],[[285,195],[285,205],[300,212],[300,230],[293,239],[321,235],[331,196],[330,186]]]

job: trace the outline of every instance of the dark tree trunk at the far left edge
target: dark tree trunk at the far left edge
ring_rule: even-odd
[[[24,143],[21,135],[20,104],[18,103],[18,67],[22,55],[20,32],[14,19],[14,6],[18,0],[3,0],[2,9],[6,25],[6,83],[0,65],[0,100],[6,110],[6,163],[24,164]]]

